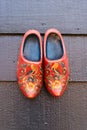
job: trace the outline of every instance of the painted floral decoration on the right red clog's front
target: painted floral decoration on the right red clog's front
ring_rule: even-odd
[[[64,62],[48,63],[45,72],[45,83],[48,83],[48,88],[60,95],[68,82]]]

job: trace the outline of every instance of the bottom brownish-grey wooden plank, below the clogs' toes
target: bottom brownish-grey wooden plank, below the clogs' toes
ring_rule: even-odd
[[[69,83],[61,98],[43,87],[26,99],[16,82],[0,82],[0,130],[86,130],[87,84]]]

